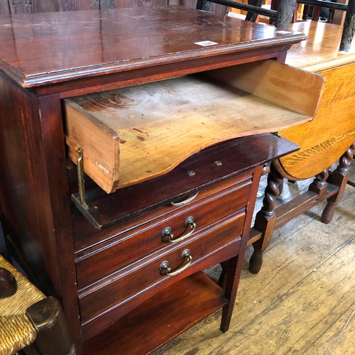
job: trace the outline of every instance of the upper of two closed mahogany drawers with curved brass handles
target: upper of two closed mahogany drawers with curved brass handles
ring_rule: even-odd
[[[82,290],[108,275],[119,271],[126,265],[145,258],[155,251],[165,252],[179,248],[189,239],[206,234],[210,225],[246,207],[251,191],[251,179],[236,184],[225,184],[218,193],[207,192],[202,197],[185,205],[183,208],[164,207],[154,219],[141,226],[136,226],[106,244],[93,247],[76,257],[77,284]],[[192,217],[195,226],[187,225]],[[171,230],[174,235],[171,243],[163,231]],[[185,239],[185,236],[188,235]],[[235,235],[235,234],[234,234]]]

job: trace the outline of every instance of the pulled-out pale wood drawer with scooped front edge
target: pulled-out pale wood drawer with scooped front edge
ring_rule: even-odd
[[[105,192],[168,173],[197,151],[315,116],[324,78],[273,60],[65,99],[75,163]]]

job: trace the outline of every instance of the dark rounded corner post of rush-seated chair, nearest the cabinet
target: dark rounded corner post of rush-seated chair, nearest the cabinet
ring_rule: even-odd
[[[26,310],[37,330],[34,345],[43,355],[75,354],[60,302],[55,297],[46,297]]]

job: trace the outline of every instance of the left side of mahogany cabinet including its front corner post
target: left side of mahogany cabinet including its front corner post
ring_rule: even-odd
[[[62,301],[73,329],[77,303],[60,101],[42,103],[42,110],[38,104],[34,94],[0,76],[1,222],[21,266],[43,293]]]

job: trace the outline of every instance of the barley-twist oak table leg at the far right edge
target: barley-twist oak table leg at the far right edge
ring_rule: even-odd
[[[335,207],[344,195],[346,182],[349,179],[349,166],[351,164],[351,160],[354,158],[354,149],[355,142],[352,143],[350,148],[347,149],[346,152],[339,159],[339,165],[337,169],[334,170],[332,176],[329,179],[329,182],[339,187],[339,191],[337,192],[337,194],[333,195],[332,197],[329,197],[329,199],[327,200],[327,206],[324,208],[322,213],[322,222],[325,224],[332,222]]]

